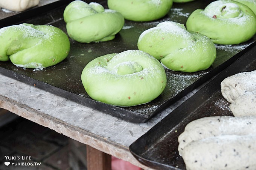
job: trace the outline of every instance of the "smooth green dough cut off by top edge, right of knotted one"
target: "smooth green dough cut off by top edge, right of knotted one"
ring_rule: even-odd
[[[164,17],[172,0],[108,0],[108,8],[120,12],[126,20],[153,21]]]

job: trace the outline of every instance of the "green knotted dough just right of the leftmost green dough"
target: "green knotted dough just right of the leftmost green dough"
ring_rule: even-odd
[[[122,14],[95,2],[75,0],[65,8],[63,16],[70,38],[82,43],[110,41],[124,25]]]

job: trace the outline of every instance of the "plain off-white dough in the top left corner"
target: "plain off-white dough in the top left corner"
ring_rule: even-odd
[[[0,8],[21,12],[37,6],[40,0],[0,0]]]

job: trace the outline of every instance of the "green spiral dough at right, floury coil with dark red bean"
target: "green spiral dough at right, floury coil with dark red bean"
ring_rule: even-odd
[[[218,0],[187,19],[187,30],[208,36],[215,44],[240,44],[256,33],[256,16],[239,2]]]

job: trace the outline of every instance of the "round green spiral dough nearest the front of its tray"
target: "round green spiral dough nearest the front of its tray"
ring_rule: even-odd
[[[107,54],[92,60],[82,71],[81,80],[91,98],[117,106],[152,101],[166,86],[161,63],[139,50]]]

